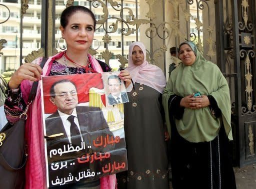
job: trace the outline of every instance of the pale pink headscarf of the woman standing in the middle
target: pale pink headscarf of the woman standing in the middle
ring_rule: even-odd
[[[144,61],[141,65],[136,66],[132,62],[131,53],[134,46],[139,46],[144,54]],[[146,49],[143,43],[133,42],[129,46],[129,57],[128,57],[128,67],[126,68],[130,72],[132,81],[135,83],[140,83],[147,85],[157,90],[162,94],[163,88],[166,85],[166,79],[162,70],[152,64],[148,64],[146,61]]]

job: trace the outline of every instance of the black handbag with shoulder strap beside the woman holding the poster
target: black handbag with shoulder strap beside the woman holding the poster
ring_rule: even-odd
[[[42,68],[47,58],[42,59]],[[27,146],[24,140],[27,110],[35,97],[38,81],[33,82],[28,104],[15,123],[6,123],[0,131],[0,189],[23,189]]]

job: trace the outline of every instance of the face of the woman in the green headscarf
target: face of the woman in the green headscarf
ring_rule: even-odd
[[[179,58],[184,65],[190,66],[194,63],[196,57],[191,47],[188,44],[183,44],[180,46]]]

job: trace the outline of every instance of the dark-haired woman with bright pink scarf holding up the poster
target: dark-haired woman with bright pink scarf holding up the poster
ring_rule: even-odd
[[[33,81],[40,80],[41,75],[63,75],[77,73],[93,73],[110,71],[103,62],[98,62],[88,54],[95,30],[94,14],[84,6],[69,6],[60,17],[61,35],[67,44],[67,50],[49,57],[43,69],[39,64],[42,58],[32,63],[21,65],[8,83],[8,97],[5,101],[5,113],[9,121],[20,115],[26,107],[28,95]],[[121,71],[119,77],[130,84],[130,75]],[[44,158],[43,127],[41,113],[40,86],[36,97],[28,110],[25,138],[28,145],[28,161],[26,163],[25,189],[46,189],[46,169]],[[78,189],[75,185],[68,189]],[[115,175],[100,179],[100,186],[84,186],[79,189],[115,189]],[[61,188],[62,189],[62,188]]]

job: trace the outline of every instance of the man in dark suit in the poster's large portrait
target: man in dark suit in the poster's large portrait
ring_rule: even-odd
[[[72,144],[75,142],[72,139],[78,135],[80,141],[73,145],[79,145],[81,141],[87,140],[82,137],[84,133],[108,130],[107,133],[112,135],[100,108],[77,106],[76,87],[70,80],[53,83],[50,88],[50,96],[50,101],[57,107],[57,111],[45,119],[47,136],[63,133],[62,138]],[[75,135],[72,136],[72,134]]]

